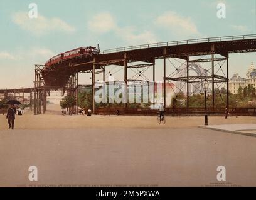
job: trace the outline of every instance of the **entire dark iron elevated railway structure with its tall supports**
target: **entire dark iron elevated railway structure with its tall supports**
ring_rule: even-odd
[[[211,84],[213,95],[212,107],[215,108],[216,84],[225,83],[227,99],[225,105],[229,106],[229,55],[235,53],[251,53],[256,51],[256,34],[243,36],[211,37],[202,39],[190,39],[183,41],[159,42],[138,46],[127,46],[100,51],[99,53],[73,56],[52,64],[51,66],[35,65],[34,82],[34,113],[41,114],[46,110],[46,96],[50,91],[67,92],[78,98],[78,73],[92,74],[92,91],[95,93],[95,75],[102,73],[105,81],[105,67],[117,66],[124,68],[124,81],[140,81],[129,79],[128,74],[132,69],[152,68],[152,78],[156,81],[156,71],[162,71],[164,82],[164,106],[166,104],[166,83],[181,82],[186,86],[186,106],[189,108],[189,85],[201,84],[208,81]],[[198,58],[200,57],[201,58]],[[182,61],[186,74],[179,73],[180,66],[172,66],[173,73],[167,74],[168,64],[171,59]],[[162,60],[163,64],[156,67],[156,60]],[[137,64],[139,62],[139,64]],[[210,63],[210,69],[205,73],[189,74],[189,68],[193,63]],[[194,65],[195,66],[195,65]],[[139,70],[138,70],[139,71]],[[220,74],[221,72],[221,74]],[[143,78],[143,71],[139,71]],[[145,80],[141,80],[145,81]],[[149,81],[149,80],[147,80]],[[93,113],[95,113],[94,95],[92,99]],[[125,104],[127,106],[127,104]],[[77,113],[77,106],[74,108]]]

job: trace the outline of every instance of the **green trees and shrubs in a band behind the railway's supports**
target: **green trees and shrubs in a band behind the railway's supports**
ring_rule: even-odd
[[[108,95],[107,95],[108,96]],[[252,108],[254,101],[256,103],[256,88],[252,85],[242,89],[240,86],[238,89],[238,94],[230,93],[230,108]],[[109,99],[108,99],[109,100]],[[62,102],[62,101],[61,101]],[[63,102],[65,106],[65,102]],[[128,103],[129,108],[149,108],[151,103]],[[213,105],[213,97],[211,94],[207,96],[207,106],[211,108]],[[81,108],[92,108],[92,91],[82,91],[78,94],[78,106]],[[124,103],[96,103],[96,107],[105,108],[118,108],[124,107]],[[203,108],[205,106],[205,94],[193,94],[189,96],[189,107],[190,108]],[[215,108],[221,109],[227,106],[227,89],[215,88]],[[62,106],[61,106],[62,107]],[[171,101],[172,108],[186,108],[186,96],[183,92],[176,94]],[[66,107],[64,107],[66,108]]]

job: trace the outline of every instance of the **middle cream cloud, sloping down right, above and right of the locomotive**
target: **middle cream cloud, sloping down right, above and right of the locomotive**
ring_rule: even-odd
[[[119,27],[114,17],[107,12],[97,14],[88,22],[90,31],[96,34],[105,34],[113,31],[116,36],[129,44],[156,42],[156,36],[150,31],[136,33],[134,27]]]

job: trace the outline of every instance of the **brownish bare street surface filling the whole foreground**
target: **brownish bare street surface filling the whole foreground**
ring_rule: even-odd
[[[256,186],[255,143],[201,128],[5,130],[0,186]],[[38,181],[29,181],[29,166]]]

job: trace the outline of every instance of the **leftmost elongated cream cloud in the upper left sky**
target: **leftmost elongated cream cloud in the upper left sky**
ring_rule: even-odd
[[[30,19],[27,12],[17,12],[13,14],[13,22],[21,29],[30,31],[36,35],[48,34],[51,31],[61,31],[72,33],[75,28],[58,18],[46,18],[38,14],[38,18]]]

